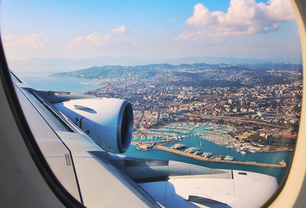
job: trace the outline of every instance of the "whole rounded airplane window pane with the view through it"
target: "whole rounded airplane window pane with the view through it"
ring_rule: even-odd
[[[25,119],[82,205],[261,207],[285,183],[303,93],[290,0],[0,10]]]

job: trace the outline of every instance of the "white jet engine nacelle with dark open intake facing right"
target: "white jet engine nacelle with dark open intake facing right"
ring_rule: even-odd
[[[105,151],[124,153],[133,133],[133,109],[116,98],[78,99],[53,104]]]

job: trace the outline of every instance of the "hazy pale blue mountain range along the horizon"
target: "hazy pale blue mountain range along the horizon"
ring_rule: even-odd
[[[176,59],[137,59],[133,57],[94,57],[88,59],[42,59],[30,58],[27,60],[8,60],[9,67],[14,71],[74,71],[91,66],[103,65],[122,65],[122,66],[137,66],[147,64],[259,64],[259,63],[278,63],[290,62],[293,64],[301,64],[301,60],[290,60],[286,58],[279,59],[256,59],[256,58],[235,58],[235,57],[184,57]]]

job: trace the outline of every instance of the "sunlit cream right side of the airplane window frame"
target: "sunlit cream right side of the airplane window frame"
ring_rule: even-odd
[[[306,2],[303,0],[290,0],[290,2],[292,3],[293,10],[295,12],[300,36],[304,89],[304,81],[306,80]],[[303,90],[302,97],[304,96],[305,93]],[[301,159],[306,157],[306,151],[303,149],[306,146],[306,140],[303,138],[303,135],[306,134],[306,130],[305,128],[302,128],[302,126],[306,126],[306,112],[304,112],[305,109],[306,103],[302,100],[300,126],[298,130],[296,145],[293,151],[293,157],[291,158],[288,170],[285,177],[283,178],[282,183],[278,187],[277,191],[271,196],[271,198],[263,205],[263,207],[293,207],[297,201],[297,198],[303,195],[302,185],[306,180],[306,164],[305,162],[301,162]],[[300,193],[300,191],[302,192]],[[284,199],[284,197],[286,199]],[[304,204],[305,203],[306,199],[304,198]]]

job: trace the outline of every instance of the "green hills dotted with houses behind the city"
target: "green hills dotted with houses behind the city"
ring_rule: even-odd
[[[280,75],[269,70],[286,70]],[[238,87],[254,85],[290,84],[301,75],[298,64],[148,64],[137,66],[105,65],[76,71],[53,73],[52,76],[107,80],[107,84],[138,84],[155,86],[214,86]],[[110,81],[111,80],[111,81]]]

